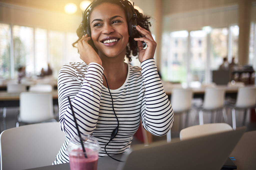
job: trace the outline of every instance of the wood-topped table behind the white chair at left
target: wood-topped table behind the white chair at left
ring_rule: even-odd
[[[53,104],[58,104],[58,91],[51,92]],[[20,93],[0,92],[0,108],[1,107],[18,107]]]

